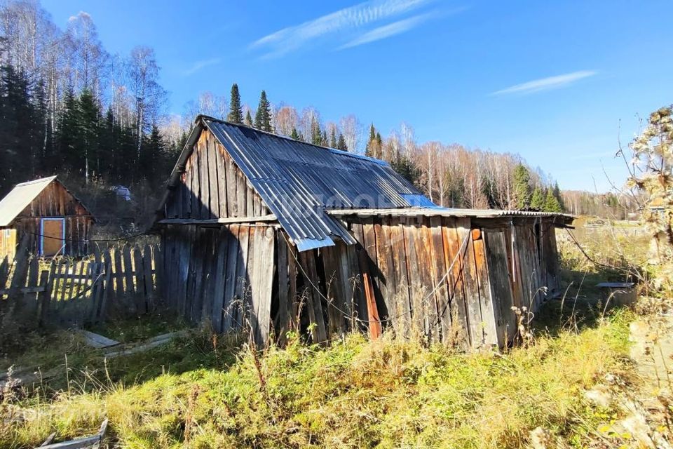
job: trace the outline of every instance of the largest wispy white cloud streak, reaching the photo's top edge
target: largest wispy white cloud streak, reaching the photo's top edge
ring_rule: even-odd
[[[250,48],[265,48],[266,57],[281,56],[326,34],[356,29],[395,15],[414,11],[433,0],[369,0],[287,27],[257,39]]]

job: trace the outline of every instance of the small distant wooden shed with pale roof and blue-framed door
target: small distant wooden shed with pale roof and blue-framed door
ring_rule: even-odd
[[[22,182],[0,201],[0,259],[18,242],[42,255],[87,254],[93,215],[55,176]]]

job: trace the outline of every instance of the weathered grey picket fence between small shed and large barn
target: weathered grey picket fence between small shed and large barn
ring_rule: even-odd
[[[114,311],[154,311],[159,297],[161,248],[121,246],[81,260],[44,260],[19,248],[15,260],[0,261],[0,305],[40,323],[87,324]]]

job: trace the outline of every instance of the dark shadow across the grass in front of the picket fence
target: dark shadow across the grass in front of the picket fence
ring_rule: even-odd
[[[88,330],[123,344],[139,344],[186,328],[171,316],[146,315]],[[89,347],[76,330],[33,331],[24,337],[31,344],[24,351],[4,354],[0,368],[29,368],[27,372],[36,373],[37,380],[25,384],[26,393],[40,391],[45,396],[58,391],[95,391],[111,384],[139,384],[167,373],[225,370],[236,362],[240,344],[245,342],[238,335],[215,335],[208,328],[199,328],[147,351],[106,358],[104,350]]]

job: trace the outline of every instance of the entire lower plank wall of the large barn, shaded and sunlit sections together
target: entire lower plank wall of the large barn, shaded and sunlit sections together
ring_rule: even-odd
[[[166,226],[165,300],[219,332],[252,328],[258,342],[272,328],[283,342],[288,330],[310,326],[311,340],[324,342],[383,326],[476,348],[511,342],[512,306],[535,311],[543,299],[535,293],[557,275],[548,260],[553,223],[547,232],[532,220],[484,227],[465,217],[354,218],[347,225],[358,245],[303,253],[268,223]]]

